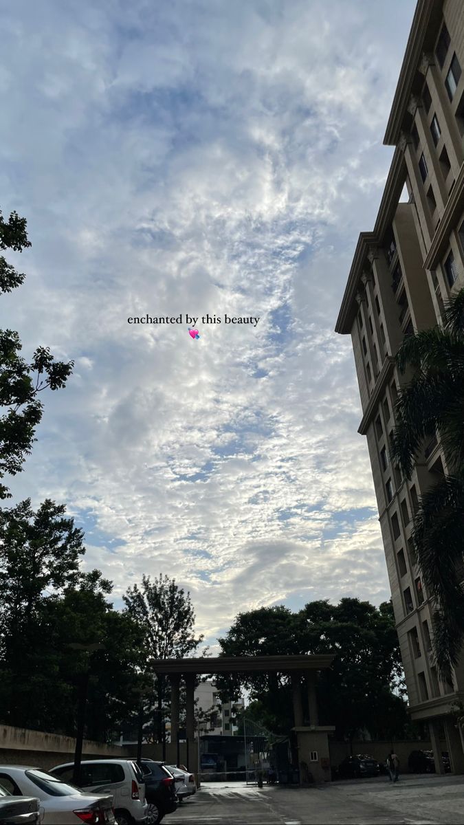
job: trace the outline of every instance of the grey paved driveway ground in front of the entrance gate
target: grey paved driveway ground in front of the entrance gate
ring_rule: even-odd
[[[202,785],[166,825],[430,825],[464,823],[464,776],[405,775],[313,788]]]

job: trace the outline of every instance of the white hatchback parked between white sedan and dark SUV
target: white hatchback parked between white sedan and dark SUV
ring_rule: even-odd
[[[73,762],[51,769],[54,776],[73,782]],[[81,762],[75,783],[92,794],[111,794],[118,825],[148,825],[144,775],[131,759],[89,759]]]

